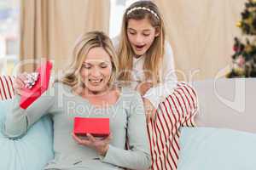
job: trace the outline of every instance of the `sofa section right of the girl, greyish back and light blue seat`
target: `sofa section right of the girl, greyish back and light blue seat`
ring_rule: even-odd
[[[192,82],[197,127],[183,127],[178,170],[256,169],[256,78]]]

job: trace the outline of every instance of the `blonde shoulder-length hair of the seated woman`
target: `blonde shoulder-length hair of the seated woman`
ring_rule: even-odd
[[[108,85],[113,85],[119,71],[119,61],[113,48],[113,43],[102,31],[90,31],[79,37],[73,48],[73,60],[68,66],[67,71],[64,72],[64,76],[58,82],[67,84],[72,88],[84,87],[84,83],[81,81],[80,71],[84,59],[86,59],[91,48],[104,48],[109,54],[112,64],[112,74]]]

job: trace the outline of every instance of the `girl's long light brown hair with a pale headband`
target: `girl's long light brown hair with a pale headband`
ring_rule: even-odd
[[[139,8],[143,9],[139,9]],[[148,10],[149,9],[149,10]],[[143,71],[146,80],[152,81],[154,85],[160,82],[160,67],[165,51],[165,26],[159,8],[151,1],[138,1],[132,3],[125,10],[123,16],[121,37],[118,49],[119,56],[119,80],[123,82],[131,81],[132,57],[135,55],[127,37],[127,26],[130,19],[148,19],[150,24],[159,31],[159,36],[154,38],[154,42],[146,52]]]

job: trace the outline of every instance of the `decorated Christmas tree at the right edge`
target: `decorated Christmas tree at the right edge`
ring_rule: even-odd
[[[235,37],[232,70],[227,77],[256,77],[256,0],[248,0],[236,26],[246,36],[245,42]]]

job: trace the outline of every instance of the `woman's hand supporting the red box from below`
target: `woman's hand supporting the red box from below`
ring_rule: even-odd
[[[78,144],[81,144],[81,145],[90,147],[93,150],[96,150],[96,152],[100,156],[105,156],[106,155],[106,153],[108,151],[109,143],[112,139],[112,134],[111,133],[105,139],[96,139],[90,133],[87,133],[86,137],[87,137],[87,139],[80,139],[77,135],[75,135],[73,133],[73,139]]]

